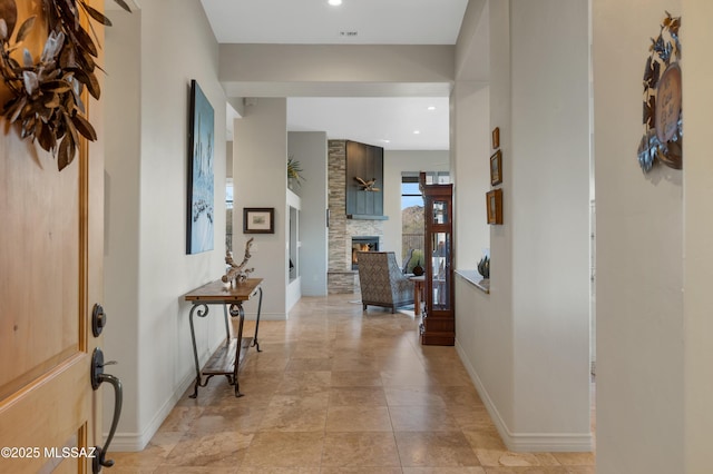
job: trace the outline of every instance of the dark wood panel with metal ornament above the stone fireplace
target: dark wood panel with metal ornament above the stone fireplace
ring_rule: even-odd
[[[346,140],[346,217],[383,220],[383,148]]]

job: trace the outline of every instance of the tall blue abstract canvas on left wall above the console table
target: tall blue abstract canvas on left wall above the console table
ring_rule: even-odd
[[[188,128],[188,226],[186,253],[213,250],[213,107],[196,80],[191,81],[191,124]]]

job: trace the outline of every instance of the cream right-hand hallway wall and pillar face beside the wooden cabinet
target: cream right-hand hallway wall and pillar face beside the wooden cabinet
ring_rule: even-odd
[[[587,451],[587,2],[491,1],[485,11],[482,115],[489,129],[500,127],[505,223],[490,229],[490,294],[457,279],[458,346],[508,447]],[[457,99],[457,110],[467,106]]]

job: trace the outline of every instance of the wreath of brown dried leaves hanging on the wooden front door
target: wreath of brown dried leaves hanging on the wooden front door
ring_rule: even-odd
[[[114,1],[130,12],[124,0]],[[0,0],[0,75],[12,96],[1,113],[19,124],[21,138],[37,140],[52,152],[61,171],[75,159],[80,135],[97,139],[81,93],[86,88],[95,99],[100,96],[95,75],[96,69],[101,70],[95,61],[99,41],[91,20],[107,27],[111,22],[87,0],[41,0],[41,6],[48,37],[39,60],[35,60],[28,49],[20,55],[20,48],[37,17],[18,26],[16,1]]]

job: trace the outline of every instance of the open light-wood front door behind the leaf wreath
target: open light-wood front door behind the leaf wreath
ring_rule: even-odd
[[[42,2],[17,3],[18,24],[41,14],[28,9]],[[23,45],[36,58],[41,34]],[[101,136],[100,103],[85,103]],[[104,145],[82,140],[58,171],[0,124],[0,472],[91,472],[88,456],[102,444],[90,317],[102,297]]]

